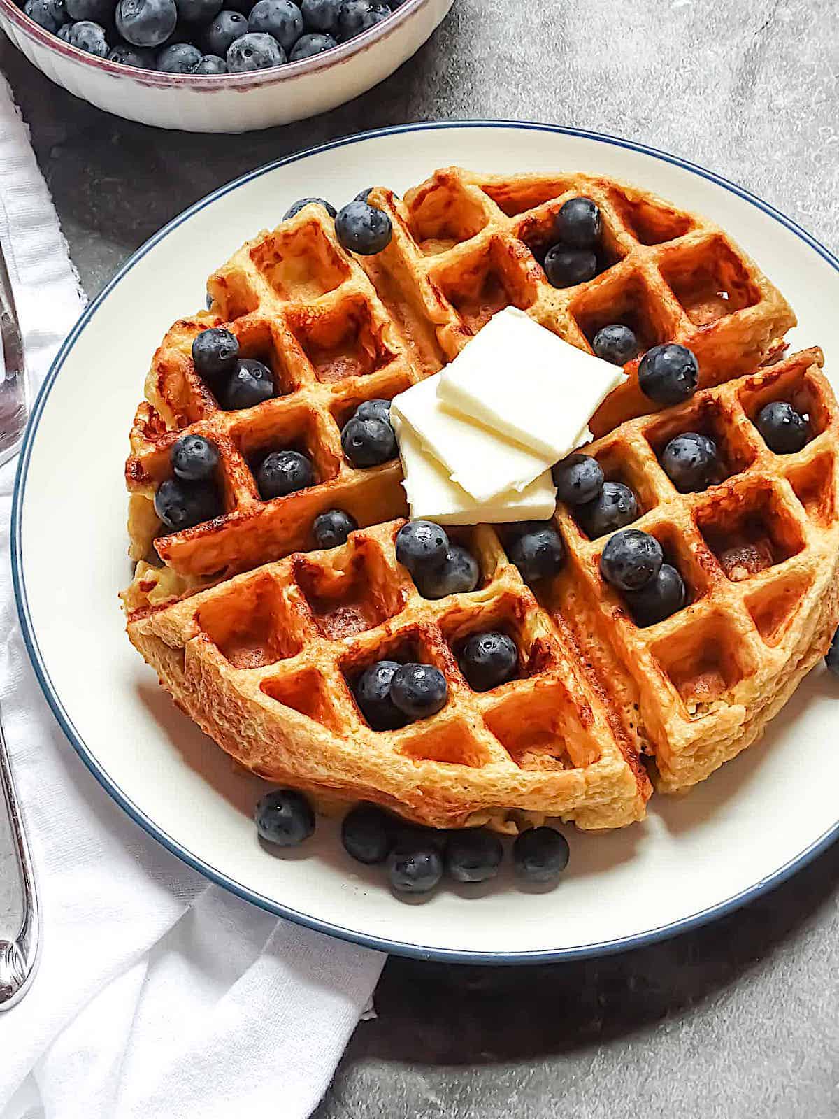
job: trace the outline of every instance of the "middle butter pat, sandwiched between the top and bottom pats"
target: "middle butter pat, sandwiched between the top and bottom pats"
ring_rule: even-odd
[[[524,490],[553,466],[554,459],[444,408],[437,398],[440,378],[437,373],[394,397],[390,415],[414,431],[452,481],[472,496],[473,504]]]

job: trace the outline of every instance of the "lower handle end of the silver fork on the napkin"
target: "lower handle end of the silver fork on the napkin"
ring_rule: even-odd
[[[11,825],[11,837],[18,856],[23,894],[23,915],[20,922],[20,931],[13,940],[3,940],[0,938],[0,1010],[8,1010],[16,1003],[20,1002],[35,976],[40,941],[40,923],[32,857],[26,831],[23,830],[20,805],[15,791],[1,713],[0,786],[3,789],[3,798]]]

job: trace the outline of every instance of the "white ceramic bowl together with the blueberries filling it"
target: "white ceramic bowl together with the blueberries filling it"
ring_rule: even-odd
[[[453,0],[0,0],[0,26],[56,84],[128,120],[247,132],[384,81]]]

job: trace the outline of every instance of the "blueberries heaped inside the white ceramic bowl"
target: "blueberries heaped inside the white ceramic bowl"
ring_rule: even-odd
[[[81,50],[169,74],[242,74],[322,54],[404,0],[25,0]]]

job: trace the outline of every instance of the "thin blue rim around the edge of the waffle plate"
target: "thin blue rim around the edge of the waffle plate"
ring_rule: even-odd
[[[647,929],[643,932],[631,933],[625,937],[618,937],[611,940],[593,941],[587,944],[576,944],[572,948],[556,948],[556,949],[531,949],[527,951],[471,951],[468,949],[447,949],[439,948],[433,946],[415,944],[408,941],[392,940],[387,937],[378,937],[370,933],[361,932],[355,929],[347,929],[342,925],[334,924],[330,921],[324,921],[319,918],[311,916],[307,913],[295,910],[289,905],[277,902],[274,899],[267,897],[261,894],[258,891],[253,890],[242,883],[236,882],[224,871],[218,869],[206,863],[198,855],[195,855],[186,846],[178,843],[172,836],[164,831],[159,825],[157,825],[147,814],[135,805],[126,793],[120,788],[120,786],[113,781],[104,769],[104,767],[95,758],[93,751],[87,746],[82,735],[76,730],[73,720],[64,707],[64,704],[58,695],[57,689],[53,685],[49,677],[46,664],[41,657],[40,648],[38,646],[38,639],[35,632],[35,627],[31,620],[29,611],[29,602],[26,589],[26,576],[23,573],[23,557],[22,557],[22,509],[25,501],[25,490],[28,476],[29,460],[32,452],[32,446],[35,443],[35,436],[38,430],[41,414],[46,406],[49,393],[55,384],[55,380],[79,335],[85,330],[87,325],[96,314],[100,305],[105,301],[111,291],[122,281],[122,279],[134,267],[134,265],[142,260],[151,250],[164,237],[167,237],[171,232],[173,232],[178,226],[182,225],[192,215],[197,214],[199,210],[204,209],[206,206],[221,198],[224,195],[229,194],[233,190],[238,189],[245,184],[249,182],[252,179],[261,178],[263,175],[267,175],[271,171],[276,170],[280,167],[285,167],[290,163],[299,162],[302,159],[307,159],[310,156],[320,154],[326,151],[334,150],[338,148],[348,147],[350,144],[362,143],[371,139],[378,139],[388,135],[396,135],[405,132],[425,132],[425,131],[439,131],[444,129],[517,129],[522,131],[534,131],[534,132],[549,132],[553,134],[567,135],[582,138],[584,140],[591,140],[596,143],[606,143],[619,148],[625,148],[630,151],[638,152],[643,156],[650,156],[653,159],[661,160],[662,162],[670,163],[675,167],[681,168],[682,170],[690,171],[694,175],[698,175],[700,178],[707,179],[708,181],[722,187],[730,194],[736,195],[744,201],[750,203],[757,209],[762,210],[769,217],[773,218],[780,225],[784,226],[796,237],[804,242],[811,250],[818,253],[836,272],[839,273],[839,257],[830,252],[824,245],[821,244],[812,234],[803,229],[796,222],[788,217],[781,210],[776,209],[770,203],[764,201],[757,195],[744,187],[737,186],[737,184],[732,182],[724,176],[710,171],[699,163],[694,163],[690,160],[682,159],[679,156],[673,156],[670,152],[662,151],[661,149],[654,148],[650,144],[643,144],[634,140],[626,140],[622,137],[612,135],[605,132],[595,132],[587,129],[577,129],[569,125],[559,124],[546,124],[536,121],[516,121],[516,120],[468,120],[468,121],[423,121],[412,124],[398,124],[389,125],[387,128],[374,129],[367,132],[359,132],[353,135],[340,137],[336,140],[330,140],[327,143],[317,144],[312,148],[307,148],[302,151],[294,152],[290,156],[285,156],[281,159],[273,160],[270,163],[265,163],[262,167],[255,168],[252,171],[247,171],[244,175],[232,179],[229,182],[217,187],[215,190],[205,195],[202,198],[198,199],[191,206],[188,206],[176,217],[171,218],[164,226],[162,226],[155,234],[153,234],[148,241],[145,241],[131,256],[125,261],[125,263],[119,269],[119,271],[111,278],[111,280],[105,284],[102,291],[92,300],[88,305],[83,310],[76,323],[73,326],[72,330],[67,335],[66,339],[62,344],[49,370],[44,378],[36,401],[32,405],[32,412],[29,417],[29,422],[26,427],[23,442],[20,450],[20,458],[18,461],[18,467],[15,477],[15,489],[12,496],[12,509],[11,509],[11,573],[12,573],[12,589],[15,593],[15,600],[18,609],[18,618],[20,621],[20,628],[23,636],[23,642],[29,656],[29,660],[32,665],[36,679],[38,685],[46,698],[53,714],[55,715],[58,725],[62,727],[65,736],[69,741],[73,749],[76,751],[78,756],[82,759],[88,771],[93,774],[96,781],[102,786],[102,788],[107,792],[107,794],[116,802],[116,805],[129,816],[135,824],[138,824],[144,831],[147,831],[152,838],[160,843],[167,850],[176,855],[183,863],[190,866],[192,869],[198,871],[206,878],[215,884],[221,886],[223,888],[229,891],[235,896],[242,899],[243,901],[249,902],[256,905],[258,909],[265,910],[276,916],[285,918],[286,920],[293,921],[295,924],[300,924],[304,928],[313,929],[317,932],[324,933],[330,937],[337,937],[340,940],[349,941],[350,943],[357,943],[365,948],[375,949],[383,952],[392,952],[397,956],[405,956],[414,959],[422,960],[436,960],[442,962],[451,963],[483,963],[483,965],[522,965],[522,963],[553,963],[559,961],[569,961],[593,958],[598,956],[607,956],[615,952],[625,951],[628,949],[640,948],[647,944],[653,944],[661,940],[669,939],[670,937],[677,935],[682,932],[688,932],[694,929],[698,929],[710,921],[717,920],[734,912],[746,903],[754,901],[755,899],[762,896],[767,891],[785,882],[794,873],[802,869],[809,863],[811,863],[818,855],[826,850],[837,838],[839,838],[839,819],[830,828],[828,828],[821,836],[809,844],[803,850],[799,852],[792,858],[788,859],[780,867],[773,871],[771,874],[758,880],[751,886],[738,891],[730,896],[708,905],[703,910],[698,910],[696,913],[691,913],[689,916],[679,918],[677,921],[667,922],[666,924],[658,925],[653,929]]]

